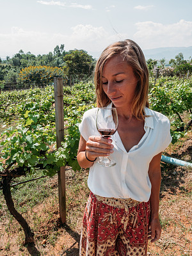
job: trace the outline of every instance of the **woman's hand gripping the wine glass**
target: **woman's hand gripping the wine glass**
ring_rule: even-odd
[[[86,141],[86,156],[93,160],[99,156],[109,156],[113,153],[113,145],[111,139],[102,138],[100,136],[90,136]]]

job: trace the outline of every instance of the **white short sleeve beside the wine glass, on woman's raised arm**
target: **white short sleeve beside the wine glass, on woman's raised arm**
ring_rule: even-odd
[[[79,124],[79,131],[84,140],[88,141],[88,138],[92,135],[97,135],[96,129],[96,108],[89,109],[83,115],[81,124]]]

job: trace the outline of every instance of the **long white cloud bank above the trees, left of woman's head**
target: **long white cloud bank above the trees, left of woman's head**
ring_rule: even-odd
[[[0,34],[0,56],[12,57],[20,49],[24,52],[30,51],[35,55],[47,54],[53,51],[56,45],[65,44],[65,51],[84,49],[96,58],[107,45],[122,38],[126,38],[126,36],[111,35],[104,28],[93,27],[89,24],[74,26],[71,28],[71,33],[68,34],[65,31],[49,34],[13,27],[10,33]]]

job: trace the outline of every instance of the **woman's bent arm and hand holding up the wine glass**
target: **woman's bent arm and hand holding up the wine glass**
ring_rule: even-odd
[[[100,136],[90,136],[88,141],[84,140],[83,136],[79,140],[79,149],[77,152],[77,161],[82,168],[90,168],[99,156],[109,156],[113,153],[113,145],[111,140]],[[85,156],[86,150],[86,156]],[[86,157],[91,160],[88,161]]]

